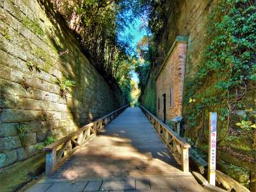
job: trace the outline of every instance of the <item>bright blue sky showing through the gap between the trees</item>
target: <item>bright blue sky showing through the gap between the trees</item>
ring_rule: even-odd
[[[121,38],[121,39],[131,36],[129,45],[132,48],[132,52],[131,52],[132,55],[137,54],[137,51],[136,51],[137,42],[139,42],[141,38],[143,38],[143,36],[147,35],[146,29],[140,28],[142,24],[143,24],[142,20],[139,19],[138,17],[135,17],[134,20],[129,24],[129,26],[125,28],[124,31],[122,31],[122,33],[118,35],[118,38]],[[132,79],[136,82],[139,81],[138,76],[135,72],[132,72]]]

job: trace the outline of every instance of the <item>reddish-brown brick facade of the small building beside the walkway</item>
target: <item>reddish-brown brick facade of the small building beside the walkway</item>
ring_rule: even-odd
[[[175,40],[156,80],[157,117],[164,119],[163,94],[166,94],[166,119],[182,115],[182,96],[186,63],[186,42]],[[172,99],[170,99],[172,97]],[[159,106],[158,106],[159,99]]]

